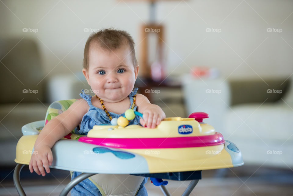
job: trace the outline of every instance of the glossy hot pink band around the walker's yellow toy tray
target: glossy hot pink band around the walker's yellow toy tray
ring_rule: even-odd
[[[86,142],[111,148],[188,148],[201,146],[215,146],[225,143],[223,135],[216,132],[213,135],[201,135],[175,138],[90,138],[80,137],[80,142]]]

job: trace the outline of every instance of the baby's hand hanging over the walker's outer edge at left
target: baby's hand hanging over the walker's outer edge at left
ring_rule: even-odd
[[[31,161],[29,164],[30,172],[36,172],[38,175],[42,174],[45,176],[45,170],[49,173],[49,165],[52,165],[53,155],[51,148],[47,145],[40,146],[38,148],[34,148],[34,153],[31,155]],[[43,166],[44,165],[44,166]]]

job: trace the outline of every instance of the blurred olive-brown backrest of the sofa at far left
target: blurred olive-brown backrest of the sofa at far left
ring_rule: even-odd
[[[11,38],[0,39],[0,46],[0,103],[44,101],[44,75],[37,44],[27,38]],[[28,93],[23,93],[24,89]]]

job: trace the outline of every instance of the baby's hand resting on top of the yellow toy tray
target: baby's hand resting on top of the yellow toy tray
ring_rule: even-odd
[[[143,118],[141,118],[139,122],[143,127],[147,126],[147,128],[156,128],[165,117],[164,112],[161,114],[161,108],[150,107],[143,111]]]

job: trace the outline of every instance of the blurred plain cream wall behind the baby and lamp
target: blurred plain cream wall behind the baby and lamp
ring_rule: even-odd
[[[293,71],[292,6],[290,0],[157,2],[157,22],[165,26],[167,74],[188,73],[192,66],[203,65],[229,78],[288,76]],[[37,41],[44,75],[50,77],[81,70],[84,45],[93,29],[128,31],[139,59],[139,27],[149,20],[149,2],[2,0],[0,18],[2,38]]]

